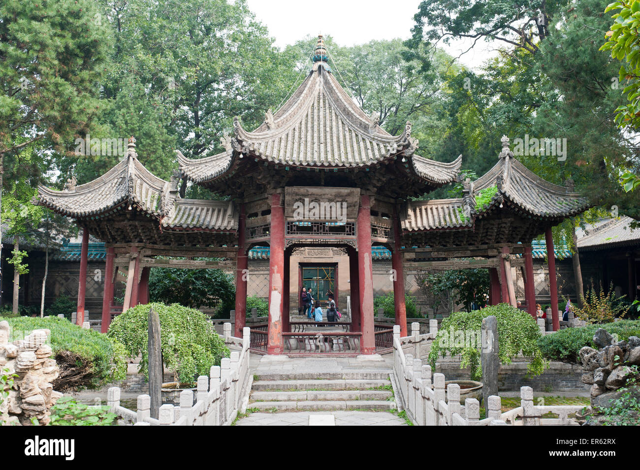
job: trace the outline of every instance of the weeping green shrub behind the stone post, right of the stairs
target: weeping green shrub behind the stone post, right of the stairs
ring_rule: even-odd
[[[471,370],[472,380],[482,377],[480,363],[480,336],[484,317],[495,315],[498,324],[499,357],[501,364],[510,364],[511,358],[520,352],[531,357],[527,366],[529,375],[540,375],[545,368],[542,352],[538,346],[540,329],[529,313],[508,304],[499,304],[473,310],[456,312],[442,320],[438,336],[431,345],[429,363],[435,367],[440,356],[461,356],[460,368]],[[466,332],[465,341],[460,341],[460,333]]]

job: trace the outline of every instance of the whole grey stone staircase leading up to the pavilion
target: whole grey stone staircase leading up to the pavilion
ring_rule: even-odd
[[[278,373],[253,381],[248,408],[260,411],[396,409],[389,373]]]

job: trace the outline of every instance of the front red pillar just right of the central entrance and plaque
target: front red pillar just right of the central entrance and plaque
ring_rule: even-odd
[[[360,352],[374,354],[376,337],[373,312],[373,265],[371,262],[371,196],[360,197],[357,223],[358,239],[358,288],[360,290],[360,320],[362,340]]]

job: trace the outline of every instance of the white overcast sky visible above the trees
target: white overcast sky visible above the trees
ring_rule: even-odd
[[[420,0],[247,0],[260,22],[269,28],[282,48],[307,36],[333,36],[340,45],[354,45],[371,40],[408,39],[413,15]],[[460,41],[445,51],[452,56],[468,49],[470,42]],[[479,67],[492,56],[490,45],[478,42],[460,61],[467,67]]]

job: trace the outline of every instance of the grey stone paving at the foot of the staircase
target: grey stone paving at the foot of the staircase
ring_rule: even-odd
[[[336,426],[406,426],[404,419],[387,411],[252,413],[239,419],[236,426],[308,426],[310,414],[332,414]]]

